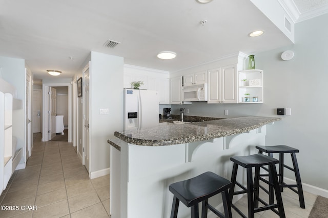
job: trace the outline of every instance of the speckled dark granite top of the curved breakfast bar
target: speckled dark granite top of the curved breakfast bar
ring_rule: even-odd
[[[246,116],[120,131],[115,132],[114,135],[123,141],[139,146],[170,146],[245,133],[278,120],[281,118]]]

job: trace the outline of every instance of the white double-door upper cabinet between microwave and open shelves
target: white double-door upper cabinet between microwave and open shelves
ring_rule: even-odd
[[[236,65],[208,70],[208,103],[238,103]]]

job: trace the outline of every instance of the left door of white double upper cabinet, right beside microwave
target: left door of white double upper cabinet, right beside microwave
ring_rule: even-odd
[[[207,103],[220,103],[220,75],[221,69],[208,70],[208,101]]]

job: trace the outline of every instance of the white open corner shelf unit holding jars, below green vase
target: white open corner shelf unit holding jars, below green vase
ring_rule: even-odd
[[[239,103],[263,103],[263,71],[260,69],[238,72]]]

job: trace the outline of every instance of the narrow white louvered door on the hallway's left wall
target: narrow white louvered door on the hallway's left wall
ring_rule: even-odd
[[[31,117],[31,84],[32,84],[32,76],[29,75],[26,71],[26,145],[25,145],[25,161],[31,156],[31,125],[32,125],[32,117]]]

